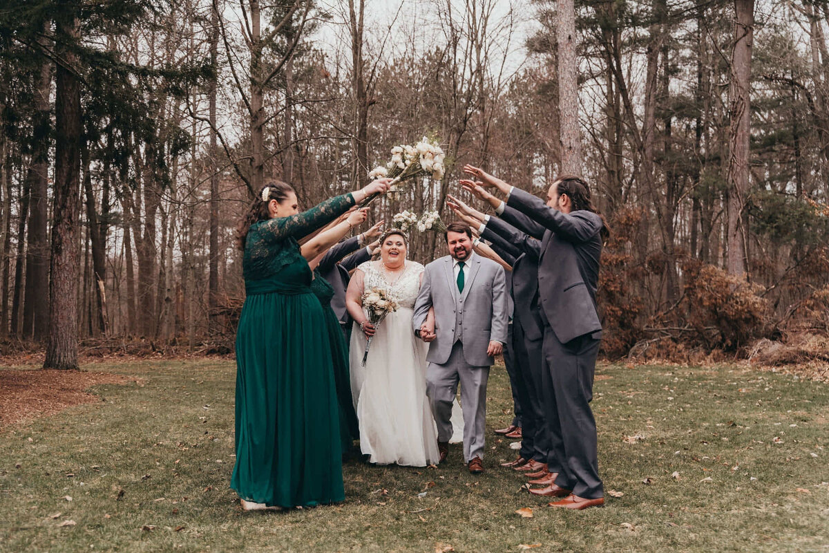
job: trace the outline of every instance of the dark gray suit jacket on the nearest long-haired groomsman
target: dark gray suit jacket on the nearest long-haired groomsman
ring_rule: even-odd
[[[547,229],[538,261],[541,309],[561,343],[602,329],[596,311],[602,219],[591,211],[561,213],[513,188],[507,205]]]

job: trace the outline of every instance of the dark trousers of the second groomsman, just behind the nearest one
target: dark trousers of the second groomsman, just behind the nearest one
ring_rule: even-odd
[[[550,454],[550,430],[544,410],[541,371],[541,340],[529,340],[521,323],[514,323],[512,351],[516,363],[516,381],[522,405],[521,457],[546,463]]]

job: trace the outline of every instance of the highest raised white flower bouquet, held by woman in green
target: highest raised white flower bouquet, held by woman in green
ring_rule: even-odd
[[[389,163],[375,167],[368,173],[368,176],[372,180],[390,177],[392,181],[389,192],[394,194],[398,192],[396,186],[398,183],[409,181],[414,177],[431,177],[435,181],[443,179],[446,173],[445,158],[446,154],[443,148],[440,148],[439,143],[423,137],[414,146],[401,144],[391,148]],[[367,198],[363,201],[363,205],[374,201],[376,196],[378,195]]]

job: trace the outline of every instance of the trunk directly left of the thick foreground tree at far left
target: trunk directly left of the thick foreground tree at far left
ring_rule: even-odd
[[[40,82],[35,93],[36,141],[29,175],[29,235],[26,251],[26,298],[23,302],[23,337],[37,341],[46,337],[49,323],[49,233],[46,223],[49,187],[49,127],[51,61],[41,66]]]

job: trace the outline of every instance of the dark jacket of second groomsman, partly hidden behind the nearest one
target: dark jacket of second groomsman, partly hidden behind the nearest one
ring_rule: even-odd
[[[482,236],[487,239],[490,236],[498,236],[521,251],[518,259],[512,264],[512,298],[516,304],[513,317],[521,324],[527,340],[541,340],[543,331],[537,313],[538,258],[541,254],[541,241],[496,217],[489,218]]]

